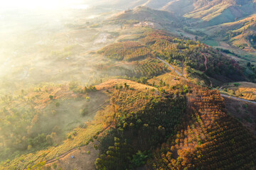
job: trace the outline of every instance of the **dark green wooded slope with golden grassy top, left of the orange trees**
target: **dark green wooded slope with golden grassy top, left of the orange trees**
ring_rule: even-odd
[[[114,88],[110,93],[118,120],[101,141],[101,155],[95,164],[97,169],[136,169],[151,157],[149,149],[174,132],[186,111],[185,98],[164,98],[155,91],[139,92],[129,87]]]

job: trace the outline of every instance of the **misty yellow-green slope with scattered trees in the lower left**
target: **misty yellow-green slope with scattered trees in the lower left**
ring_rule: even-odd
[[[95,117],[106,100],[106,94],[95,86],[82,87],[74,82],[22,90],[18,96],[3,96],[0,155],[5,161],[1,163],[2,169],[24,169],[31,163],[48,161],[86,145],[110,124],[101,122],[102,118],[111,117],[107,113],[97,113]],[[86,123],[92,119],[94,122]],[[18,154],[23,155],[13,159]]]

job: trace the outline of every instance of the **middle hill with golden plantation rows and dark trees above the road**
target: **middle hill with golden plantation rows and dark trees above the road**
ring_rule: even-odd
[[[99,52],[112,60],[126,61],[158,56],[171,64],[185,66],[188,75],[206,81],[208,77],[223,82],[256,79],[256,74],[244,74],[245,69],[238,62],[201,42],[181,39],[163,30],[151,29],[144,30],[138,37],[138,42],[118,42]]]

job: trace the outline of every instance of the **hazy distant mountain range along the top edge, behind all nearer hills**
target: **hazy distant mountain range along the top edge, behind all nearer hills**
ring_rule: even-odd
[[[256,11],[255,0],[102,0],[101,4],[122,9],[136,6],[174,12],[186,18],[195,18],[197,26],[215,26],[249,16]]]

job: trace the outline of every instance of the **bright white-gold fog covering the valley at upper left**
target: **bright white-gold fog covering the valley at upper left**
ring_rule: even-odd
[[[95,76],[94,65],[104,59],[90,51],[111,41],[109,29],[99,25],[110,8],[70,0],[0,4],[0,94]]]

